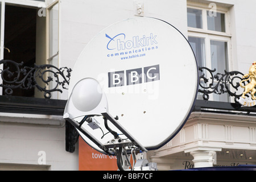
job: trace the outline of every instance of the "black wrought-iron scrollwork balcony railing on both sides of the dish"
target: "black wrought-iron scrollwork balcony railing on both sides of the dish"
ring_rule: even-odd
[[[44,93],[45,98],[51,98],[53,92],[62,93],[62,89],[68,89],[71,77],[71,68],[57,68],[51,64],[24,66],[12,60],[1,60],[3,69],[0,74],[5,95],[11,96],[16,88],[28,90],[37,88]],[[210,94],[225,94],[234,97],[237,102],[242,92],[238,92],[243,73],[238,71],[215,73],[216,69],[199,67],[199,93],[203,94],[203,100],[209,100]],[[51,87],[49,84],[51,83]]]

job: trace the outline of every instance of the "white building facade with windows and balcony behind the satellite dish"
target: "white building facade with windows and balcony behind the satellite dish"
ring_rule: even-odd
[[[60,68],[72,69],[86,44],[110,24],[137,16],[162,19],[188,39],[199,67],[215,68],[214,74],[224,74],[225,71],[246,74],[256,57],[256,2],[253,0],[0,2],[0,59],[13,60],[22,63],[18,65],[22,68],[32,67],[36,71],[43,68],[34,64],[49,64],[52,71],[39,76],[45,80],[36,82],[38,86],[32,88],[26,85],[19,85],[18,89],[0,87],[3,96],[0,169],[79,170],[79,144],[73,144],[75,151],[67,150],[67,123],[61,110],[57,113],[56,109],[59,109],[57,106],[63,108],[63,101],[68,99],[65,89],[68,88],[65,85],[68,73],[60,76],[57,82],[64,84],[64,88],[46,80],[54,78],[54,72],[60,73],[63,70],[58,70]],[[15,63],[2,62],[0,69],[10,67],[10,71],[15,70]],[[29,72],[24,70],[19,72]],[[201,69],[199,73],[211,79],[207,69]],[[165,146],[147,153],[147,159],[156,162],[159,170],[256,164],[254,110],[237,109],[232,94],[222,92],[223,88],[214,88],[220,84],[219,80],[213,80],[213,86],[209,87],[214,91],[209,94],[199,92],[195,109],[183,129]],[[201,90],[208,88],[209,83],[204,81],[200,79]],[[7,77],[2,77],[3,85],[9,82]],[[44,90],[45,86],[56,92]],[[4,97],[6,94],[11,96]],[[39,101],[45,102],[38,104]],[[32,105],[35,102],[37,111]]]

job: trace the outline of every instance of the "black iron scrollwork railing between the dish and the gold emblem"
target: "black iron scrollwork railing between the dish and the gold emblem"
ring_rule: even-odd
[[[230,96],[234,97],[234,102],[238,102],[238,98],[242,96],[242,92],[239,92],[239,88],[243,73],[238,71],[224,71],[224,74],[216,73],[213,75],[214,72],[216,72],[216,69],[211,70],[206,67],[199,67],[199,71],[201,71],[203,75],[199,76],[198,92],[203,93],[204,100],[208,100],[209,94],[211,93],[228,93]],[[208,75],[209,78],[205,75]]]

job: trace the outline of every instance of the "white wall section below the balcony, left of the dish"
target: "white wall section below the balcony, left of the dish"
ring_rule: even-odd
[[[74,153],[65,151],[62,117],[0,115],[0,170],[78,170],[78,146]]]

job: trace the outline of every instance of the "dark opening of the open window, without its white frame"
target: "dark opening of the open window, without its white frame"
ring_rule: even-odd
[[[23,66],[32,67],[36,63],[36,9],[5,5],[5,36],[3,59],[13,60],[16,63],[23,63]],[[3,68],[10,67],[10,71],[15,75],[14,64],[4,65]],[[15,76],[14,75],[14,76]],[[20,75],[20,78],[23,78]],[[10,79],[10,80],[9,80]],[[6,77],[6,81],[12,81],[13,77]],[[34,88],[22,90],[14,89],[13,96],[34,96]]]

